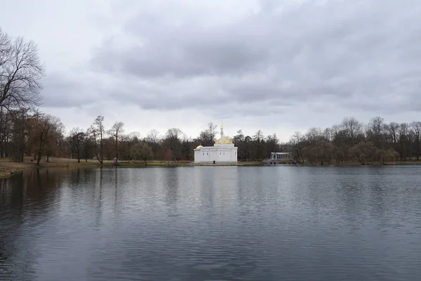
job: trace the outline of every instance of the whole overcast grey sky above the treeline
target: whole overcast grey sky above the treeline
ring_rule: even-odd
[[[66,129],[225,135],[421,119],[419,0],[3,0]],[[19,16],[18,16],[19,15]]]

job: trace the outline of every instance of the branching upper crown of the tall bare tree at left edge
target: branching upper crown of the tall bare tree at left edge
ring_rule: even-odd
[[[0,30],[0,107],[39,105],[44,71],[33,41],[11,40]]]

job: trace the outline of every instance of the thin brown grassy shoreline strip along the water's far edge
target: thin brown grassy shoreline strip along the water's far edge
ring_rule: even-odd
[[[148,161],[145,162],[136,161],[121,161],[119,162],[119,167],[122,168],[148,168],[148,167],[177,167],[177,166],[320,166],[320,167],[338,167],[338,166],[408,166],[408,165],[421,165],[421,160],[407,160],[407,161],[396,161],[396,162],[387,162],[382,164],[380,162],[374,162],[372,164],[362,165],[359,162],[331,162],[330,164],[321,165],[316,163],[305,163],[305,164],[267,164],[265,162],[258,161],[245,161],[239,162],[238,164],[194,164],[189,161],[182,162],[168,162],[168,161]],[[34,168],[93,168],[93,167],[112,167],[112,161],[104,160],[103,164],[100,164],[98,160],[85,160],[77,163],[75,159],[56,159],[51,157],[51,162],[41,162],[40,166],[36,166],[36,163],[31,163],[30,159],[25,159],[25,162],[13,162],[8,158],[0,158],[0,178],[8,178],[13,174],[17,174],[21,171]]]

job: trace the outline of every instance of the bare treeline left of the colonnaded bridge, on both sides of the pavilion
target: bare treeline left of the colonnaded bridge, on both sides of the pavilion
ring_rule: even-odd
[[[30,155],[39,164],[41,157],[65,157],[78,162],[104,160],[149,160],[191,161],[194,148],[198,145],[213,145],[217,138],[217,125],[209,123],[208,128],[191,138],[178,128],[168,129],[160,134],[152,129],[146,136],[138,132],[126,133],[124,124],[116,122],[105,128],[104,117],[98,116],[87,129],[79,127],[65,131],[60,119],[42,112],[25,110],[0,110],[0,155],[23,161]],[[244,136],[241,131],[232,138],[239,148],[240,160],[264,159],[272,151],[282,150],[276,135],[263,136],[258,131],[254,136]]]

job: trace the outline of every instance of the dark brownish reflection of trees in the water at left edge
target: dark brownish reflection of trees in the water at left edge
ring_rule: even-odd
[[[0,179],[0,280],[27,280],[29,276],[23,275],[36,270],[38,254],[27,229],[42,223],[53,211],[49,203],[55,200],[53,191],[62,184],[63,175],[32,169]]]

